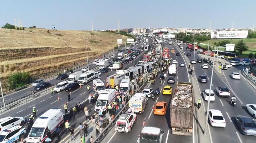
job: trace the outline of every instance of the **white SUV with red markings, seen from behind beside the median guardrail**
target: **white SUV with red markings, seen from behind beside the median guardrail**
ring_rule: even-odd
[[[123,113],[119,116],[115,124],[117,132],[131,132],[132,126],[137,121],[137,115],[133,113]]]

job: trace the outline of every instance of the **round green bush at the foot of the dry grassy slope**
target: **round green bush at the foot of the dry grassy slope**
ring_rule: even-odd
[[[29,84],[30,75],[27,72],[18,72],[8,76],[8,83],[12,89],[17,89]]]

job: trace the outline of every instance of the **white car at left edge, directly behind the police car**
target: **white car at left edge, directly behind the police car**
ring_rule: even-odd
[[[24,125],[26,119],[24,117],[5,117],[0,119],[0,133],[16,125]]]

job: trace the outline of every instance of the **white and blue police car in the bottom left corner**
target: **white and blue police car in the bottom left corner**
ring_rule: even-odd
[[[26,129],[20,125],[16,125],[0,133],[0,143],[13,143],[25,138]]]

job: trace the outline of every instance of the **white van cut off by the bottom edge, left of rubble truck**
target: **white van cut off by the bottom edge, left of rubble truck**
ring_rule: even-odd
[[[163,134],[161,128],[144,126],[140,132],[139,143],[162,143]]]

